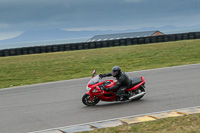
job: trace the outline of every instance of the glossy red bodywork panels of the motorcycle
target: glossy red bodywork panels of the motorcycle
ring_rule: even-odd
[[[142,79],[141,83],[137,84],[136,86],[134,86],[130,89],[126,89],[125,91],[133,91],[133,90],[138,89],[141,85],[143,85],[145,83],[144,77],[141,77],[141,79]],[[112,87],[116,84],[116,80],[108,79],[108,80],[105,80],[105,81],[111,82],[109,85],[106,85],[105,88],[110,88],[110,87]],[[90,82],[88,82],[87,86],[91,89],[88,92],[86,92],[86,94],[91,96],[91,101],[93,100],[94,96],[98,97],[102,101],[114,101],[115,98],[116,98],[116,94],[113,93],[113,91],[117,91],[118,89],[110,91],[110,92],[106,92],[106,91],[100,89],[99,86],[102,85],[102,84],[103,84],[103,81],[96,83],[96,84],[93,84],[93,85],[91,85]],[[106,95],[109,95],[109,96],[106,96]]]

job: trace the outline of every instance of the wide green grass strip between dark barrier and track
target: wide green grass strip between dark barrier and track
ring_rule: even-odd
[[[0,88],[200,63],[200,40],[0,57]]]

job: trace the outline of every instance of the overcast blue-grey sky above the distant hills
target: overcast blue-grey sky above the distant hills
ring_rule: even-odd
[[[1,38],[30,29],[123,30],[199,24],[200,0],[0,0]]]

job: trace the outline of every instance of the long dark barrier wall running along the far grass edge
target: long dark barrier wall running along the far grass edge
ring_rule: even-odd
[[[147,37],[126,38],[126,39],[106,40],[106,41],[96,41],[96,42],[80,42],[80,43],[70,43],[70,44],[56,44],[56,45],[46,45],[46,46],[3,49],[0,50],[0,57],[59,52],[59,51],[72,51],[72,50],[82,50],[82,49],[95,49],[95,48],[114,47],[114,46],[127,46],[136,44],[148,44],[148,43],[179,41],[188,39],[200,39],[200,32],[167,34],[160,36],[147,36]]]

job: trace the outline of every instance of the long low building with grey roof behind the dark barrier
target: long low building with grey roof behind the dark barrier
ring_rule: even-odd
[[[88,42],[126,39],[126,38],[137,38],[137,37],[146,37],[146,36],[157,36],[157,35],[164,35],[164,34],[158,30],[143,31],[143,32],[117,33],[117,34],[105,34],[105,35],[93,36],[92,38],[90,38],[88,40]]]

